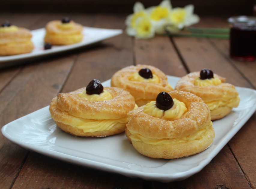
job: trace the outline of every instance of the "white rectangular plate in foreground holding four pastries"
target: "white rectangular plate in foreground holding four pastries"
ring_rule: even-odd
[[[178,77],[167,76],[172,86]],[[103,83],[110,85],[110,80]],[[241,101],[221,120],[213,121],[215,138],[205,151],[186,158],[164,160],[139,154],[125,134],[104,138],[74,137],[61,131],[50,117],[49,106],[2,128],[3,135],[26,149],[62,161],[145,180],[171,182],[186,179],[203,169],[227,144],[256,109],[256,91],[236,87]]]

